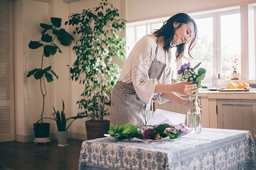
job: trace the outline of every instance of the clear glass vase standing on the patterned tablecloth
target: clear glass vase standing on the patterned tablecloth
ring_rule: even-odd
[[[187,111],[187,127],[191,129],[191,133],[200,133],[202,130],[201,111],[198,104],[198,92],[194,92],[190,97],[190,107]]]

